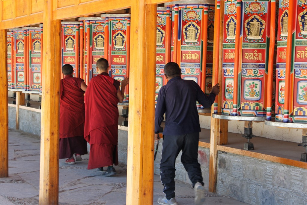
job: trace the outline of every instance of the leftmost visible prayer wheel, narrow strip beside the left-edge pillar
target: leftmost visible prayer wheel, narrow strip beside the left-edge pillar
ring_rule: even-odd
[[[8,83],[8,88],[13,89],[14,88],[14,81],[13,81],[13,76],[14,76],[14,70],[12,69],[12,45],[14,42],[14,37],[13,33],[11,31],[7,32],[6,35],[7,38],[7,83]]]

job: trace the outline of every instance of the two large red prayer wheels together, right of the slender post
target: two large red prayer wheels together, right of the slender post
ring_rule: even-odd
[[[307,2],[232,0],[221,12],[222,114],[306,123]]]

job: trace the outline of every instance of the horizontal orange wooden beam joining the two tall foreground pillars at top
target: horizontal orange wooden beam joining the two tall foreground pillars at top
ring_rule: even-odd
[[[52,17],[53,19],[77,18],[84,15],[100,14],[104,12],[127,9],[131,6],[131,4],[132,0],[99,0],[79,4],[78,6],[57,8],[53,11]]]

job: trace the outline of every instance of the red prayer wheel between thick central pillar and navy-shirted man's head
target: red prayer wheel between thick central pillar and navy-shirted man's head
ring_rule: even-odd
[[[159,90],[166,84],[164,66],[170,62],[171,12],[157,7],[157,51],[156,51],[156,102]]]

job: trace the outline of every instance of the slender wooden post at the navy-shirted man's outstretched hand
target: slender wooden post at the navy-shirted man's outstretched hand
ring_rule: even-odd
[[[223,15],[224,1],[216,0],[214,45],[213,45],[213,84],[220,83],[222,88],[222,60],[223,60]],[[218,96],[217,112],[221,112],[221,94]],[[212,107],[212,112],[214,108]],[[228,121],[211,117],[210,160],[209,160],[209,191],[216,191],[217,181],[217,145],[227,144]]]

